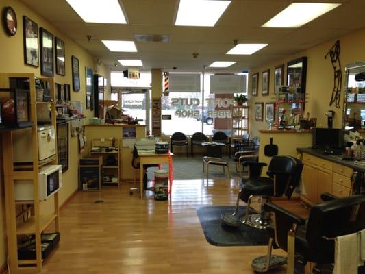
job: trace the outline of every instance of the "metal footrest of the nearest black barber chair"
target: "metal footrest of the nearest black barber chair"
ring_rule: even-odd
[[[251,262],[252,269],[258,273],[266,273],[272,269],[286,264],[286,258],[278,255],[271,255],[273,250],[273,239],[268,240],[268,253],[265,256],[260,256]]]

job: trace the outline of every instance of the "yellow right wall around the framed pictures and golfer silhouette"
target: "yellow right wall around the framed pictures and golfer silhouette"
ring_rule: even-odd
[[[342,88],[341,88],[341,108],[338,109],[335,105],[329,107],[329,101],[331,99],[331,93],[333,89],[333,69],[331,65],[331,60],[329,58],[325,59],[326,53],[336,42],[340,40],[341,53],[340,61],[342,65]],[[342,123],[342,101],[344,94],[344,84],[345,84],[345,71],[344,68],[347,64],[360,62],[365,60],[365,51],[362,45],[365,43],[365,29],[361,29],[357,32],[347,34],[340,38],[335,38],[323,44],[317,45],[305,51],[301,51],[295,55],[291,55],[289,58],[277,60],[275,62],[270,62],[264,66],[260,66],[250,71],[249,77],[249,105],[250,108],[250,132],[251,137],[258,136],[258,131],[260,129],[268,129],[266,121],[255,121],[254,119],[254,107],[255,102],[273,102],[275,101],[274,95],[274,68],[280,64],[286,64],[290,60],[300,58],[302,56],[307,56],[307,88],[306,96],[307,103],[305,103],[305,114],[310,112],[311,117],[316,117],[318,127],[327,127],[327,116],[325,112],[327,110],[334,110],[336,112],[333,127],[341,127]],[[269,45],[270,47],[270,45]],[[286,68],[287,66],[285,66]],[[262,81],[262,71],[270,69],[270,95],[262,97],[261,95],[261,81]],[[251,75],[253,73],[260,73],[259,86],[258,86],[258,96],[251,96]],[[286,69],[285,69],[286,74]],[[285,78],[286,79],[286,75]],[[284,81],[285,84],[286,81]],[[264,108],[265,110],[265,108]],[[265,111],[264,111],[265,117]]]

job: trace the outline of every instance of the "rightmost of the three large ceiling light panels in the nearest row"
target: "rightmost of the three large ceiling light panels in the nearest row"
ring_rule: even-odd
[[[262,27],[301,27],[315,18],[337,8],[333,3],[292,3]]]

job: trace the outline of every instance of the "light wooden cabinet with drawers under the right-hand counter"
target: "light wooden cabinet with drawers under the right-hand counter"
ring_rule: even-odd
[[[303,200],[310,204],[321,203],[320,195],[325,192],[338,197],[350,195],[353,169],[303,153],[302,179],[306,194]]]

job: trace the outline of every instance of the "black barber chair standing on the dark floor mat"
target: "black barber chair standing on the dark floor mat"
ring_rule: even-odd
[[[238,193],[236,210],[233,214],[221,215],[223,223],[238,226],[242,223],[251,227],[265,229],[270,222],[270,214],[265,212],[264,204],[270,201],[270,197],[292,196],[301,179],[303,164],[300,160],[286,155],[273,156],[268,166],[268,177],[262,177],[262,162],[247,161],[243,163],[249,167],[249,178],[242,179],[242,188]],[[261,197],[261,211],[259,214],[249,214],[251,201],[254,197]],[[243,220],[237,216],[240,199],[247,203],[247,210]]]

